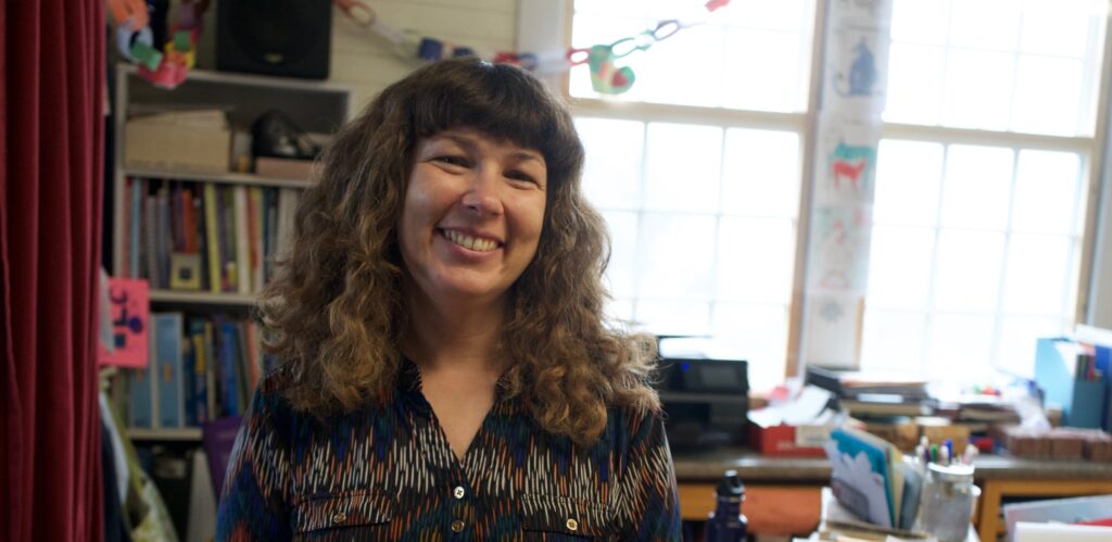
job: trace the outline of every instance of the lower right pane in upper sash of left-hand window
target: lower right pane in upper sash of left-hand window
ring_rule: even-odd
[[[766,30],[731,29],[726,35],[723,101],[726,107],[767,111],[802,109],[800,37]],[[754,75],[759,73],[759,77]],[[678,79],[678,78],[677,78]],[[691,92],[688,81],[678,80]],[[709,105],[709,104],[707,104]]]

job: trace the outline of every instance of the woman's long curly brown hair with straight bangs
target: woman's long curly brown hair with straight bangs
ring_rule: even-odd
[[[583,145],[567,106],[529,73],[476,59],[425,66],[344,127],[297,209],[291,249],[262,293],[265,348],[291,365],[285,396],[326,415],[388,401],[400,365],[404,303],[397,224],[417,142],[467,127],[538,150],[548,189],[534,260],[512,286],[498,344],[503,382],[545,430],[592,442],[607,407],[658,410],[655,352],[609,328],[600,215],[584,198]]]

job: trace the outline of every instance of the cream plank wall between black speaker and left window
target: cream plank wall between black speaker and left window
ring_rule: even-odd
[[[364,0],[396,29],[476,49],[517,50],[517,0]],[[351,114],[386,86],[421,65],[332,9],[329,80],[351,89]]]

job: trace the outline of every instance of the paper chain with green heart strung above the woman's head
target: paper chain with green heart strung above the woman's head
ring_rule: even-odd
[[[656,27],[622,38],[609,45],[595,45],[580,49],[568,49],[555,60],[545,60],[532,52],[479,51],[449,41],[421,36],[409,29],[397,29],[378,19],[378,14],[363,0],[335,0],[336,7],[349,19],[394,46],[395,52],[405,58],[419,58],[426,61],[453,57],[479,57],[496,63],[509,63],[530,71],[559,71],[574,66],[587,65],[590,69],[590,86],[596,92],[619,95],[633,88],[637,77],[628,66],[619,67],[615,61],[636,51],[648,50],[658,41],[666,40],[676,32],[704,22],[705,16],[729,4],[731,0],[708,0],[703,8],[705,13],[692,20],[668,19]]]

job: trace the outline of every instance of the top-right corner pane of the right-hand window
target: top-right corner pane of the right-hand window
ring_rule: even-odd
[[[1096,0],[1025,0],[1020,47],[1023,51],[1081,58],[1089,46],[1090,23],[1103,16]]]

